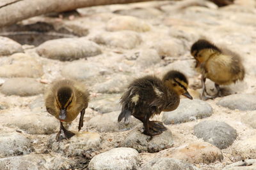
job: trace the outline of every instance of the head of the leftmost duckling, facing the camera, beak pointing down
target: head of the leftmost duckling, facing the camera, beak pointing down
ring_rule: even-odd
[[[67,111],[70,110],[74,103],[74,92],[71,87],[60,87],[56,93],[56,103],[60,109],[60,121],[67,118]]]

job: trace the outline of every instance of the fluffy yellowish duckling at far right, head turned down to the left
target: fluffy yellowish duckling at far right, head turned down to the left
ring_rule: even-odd
[[[223,96],[220,85],[230,85],[244,79],[244,66],[240,56],[228,49],[220,49],[205,39],[199,39],[191,46],[191,55],[195,57],[196,70],[202,74],[200,98],[203,100]],[[215,83],[217,93],[214,96],[207,93],[206,78]]]

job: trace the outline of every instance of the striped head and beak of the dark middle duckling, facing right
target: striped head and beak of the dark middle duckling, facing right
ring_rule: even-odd
[[[188,92],[188,79],[179,71],[168,71],[163,77],[164,85],[177,94],[193,99]]]

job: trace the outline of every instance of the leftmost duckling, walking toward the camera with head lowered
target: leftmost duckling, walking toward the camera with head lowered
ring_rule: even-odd
[[[45,92],[46,110],[60,120],[60,131],[56,136],[57,141],[69,139],[75,134],[67,131],[63,122],[72,122],[79,113],[78,131],[83,127],[85,109],[88,106],[89,93],[81,83],[72,80],[58,80],[52,83],[51,87]],[[63,138],[60,134],[63,132]]]

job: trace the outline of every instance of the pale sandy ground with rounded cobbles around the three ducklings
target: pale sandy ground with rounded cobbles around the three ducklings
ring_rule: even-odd
[[[255,6],[253,0],[222,8],[208,1],[116,4],[1,29],[9,38],[0,37],[0,169],[256,169]],[[198,99],[200,75],[189,51],[199,38],[243,58],[246,76],[223,87],[229,96]],[[168,130],[150,138],[135,118],[118,124],[126,85],[170,69],[188,76],[194,100],[154,117]],[[77,132],[77,117],[69,127],[76,136],[60,143],[59,122],[43,97],[58,78],[90,90],[84,127]],[[206,84],[214,93],[214,84]]]

